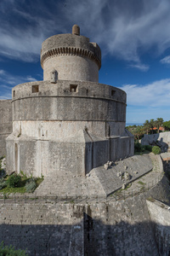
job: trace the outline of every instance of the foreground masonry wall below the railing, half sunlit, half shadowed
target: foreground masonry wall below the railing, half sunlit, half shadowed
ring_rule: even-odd
[[[146,198],[168,201],[167,179],[127,201],[1,203],[0,241],[29,255],[160,255]]]

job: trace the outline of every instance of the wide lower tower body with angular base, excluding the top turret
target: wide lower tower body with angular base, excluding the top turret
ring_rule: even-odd
[[[124,131],[126,93],[116,87],[60,80],[19,84],[12,106],[8,173],[46,176],[69,168],[85,175],[133,155],[133,137]]]

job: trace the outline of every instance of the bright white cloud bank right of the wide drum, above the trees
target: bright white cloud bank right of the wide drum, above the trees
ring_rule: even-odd
[[[170,79],[162,79],[151,84],[124,84],[122,90],[127,92],[127,105],[170,107]]]

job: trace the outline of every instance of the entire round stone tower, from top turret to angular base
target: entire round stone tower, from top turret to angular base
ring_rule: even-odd
[[[43,81],[13,89],[8,172],[84,176],[133,154],[133,137],[125,131],[126,93],[98,83],[98,44],[80,36],[75,25],[72,34],[42,43],[41,64]]]

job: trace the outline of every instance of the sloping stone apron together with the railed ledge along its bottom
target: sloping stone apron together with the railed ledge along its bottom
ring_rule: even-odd
[[[87,177],[72,176],[71,172],[52,172],[45,177],[33,195],[9,195],[5,202],[122,201],[154,187],[161,180],[164,175],[161,157],[153,153],[134,155],[117,161],[108,170],[99,166],[88,173]],[[125,182],[117,177],[117,172],[128,172],[131,179]],[[127,183],[126,189],[122,189],[123,183]],[[0,200],[4,201],[3,195]]]

